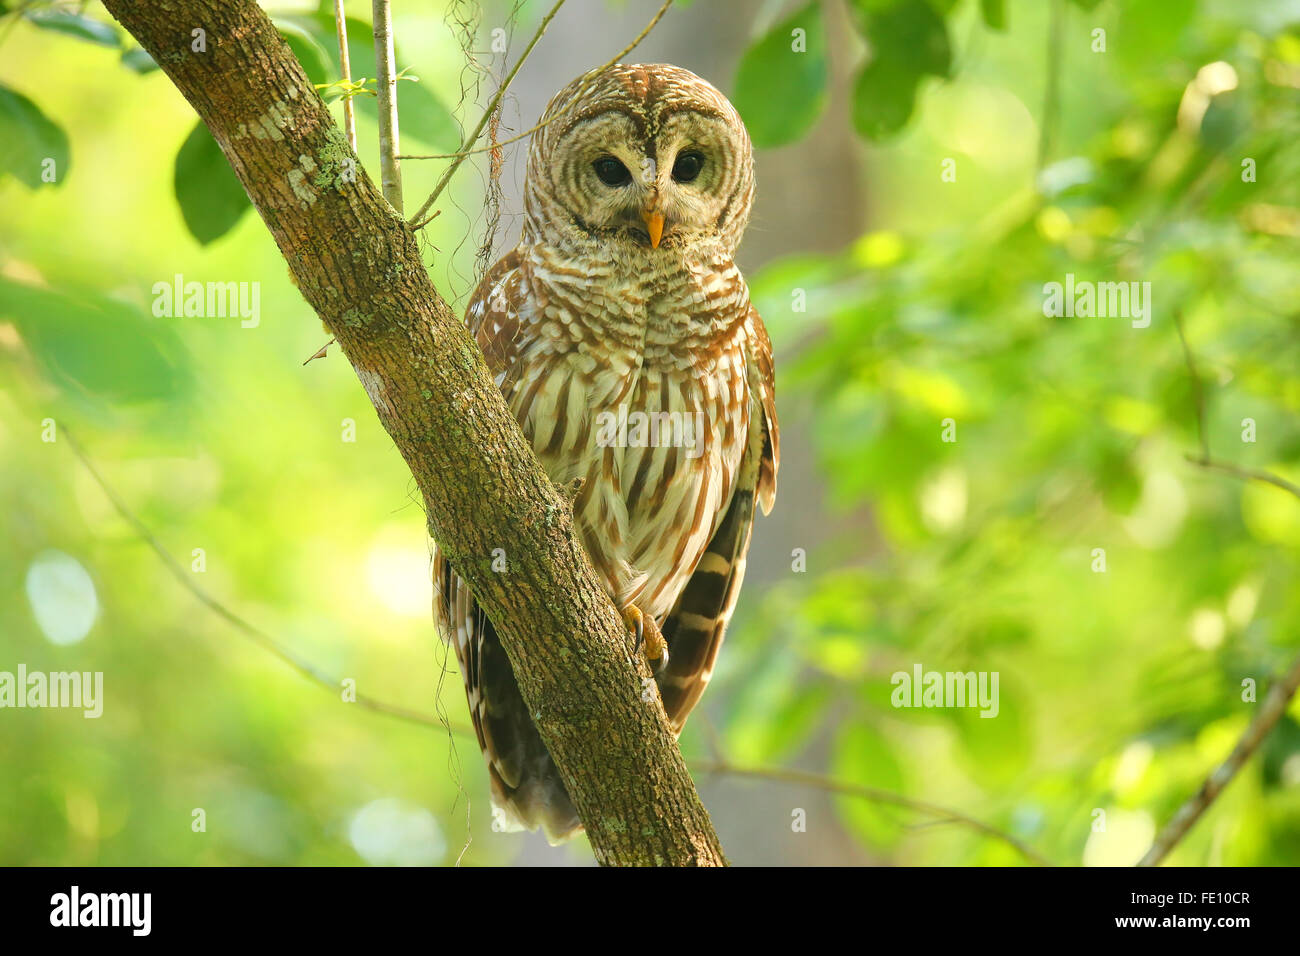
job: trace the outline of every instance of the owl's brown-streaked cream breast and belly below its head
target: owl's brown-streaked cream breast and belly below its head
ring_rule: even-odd
[[[611,594],[662,619],[734,489],[759,333],[729,259],[649,264],[523,247],[469,319],[552,480],[585,479],[575,516]]]

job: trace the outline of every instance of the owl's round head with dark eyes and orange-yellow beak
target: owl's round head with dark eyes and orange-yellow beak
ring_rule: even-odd
[[[753,148],[712,85],[667,64],[618,65],[560,90],[542,122],[528,155],[525,241],[734,252],[754,196]]]

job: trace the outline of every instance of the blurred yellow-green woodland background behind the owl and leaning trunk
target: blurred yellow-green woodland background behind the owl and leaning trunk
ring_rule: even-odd
[[[264,5],[338,79],[316,5]],[[454,150],[550,7],[398,0],[404,152]],[[569,0],[500,135],[658,7]],[[493,832],[472,737],[341,700],[465,721],[413,483],[346,360],[303,364],[328,336],[134,46],[99,4],[0,4],[0,671],[101,671],[105,696],[0,710],[0,862],[589,865],[582,839]],[[1187,459],[1204,437],[1300,479],[1300,4],[694,0],[629,60],[741,109],[740,259],[777,352],[780,494],[688,758],[1135,862],[1256,713],[1243,682],[1262,700],[1300,645],[1300,499]],[[517,237],[524,151],[495,206],[467,164],[425,230],[458,304]],[[442,168],[404,163],[408,209]],[[260,284],[260,324],[155,317],[177,273]],[[1150,282],[1149,326],[1045,316],[1066,273]],[[915,663],[997,671],[998,717],[893,708]],[[906,806],[697,778],[737,864],[1024,862]],[[1300,706],[1173,861],[1300,862]]]

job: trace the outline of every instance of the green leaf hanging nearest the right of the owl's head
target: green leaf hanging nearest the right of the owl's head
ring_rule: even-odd
[[[826,27],[818,4],[810,3],[740,61],[732,103],[754,146],[784,146],[807,133],[826,108],[828,75]]]

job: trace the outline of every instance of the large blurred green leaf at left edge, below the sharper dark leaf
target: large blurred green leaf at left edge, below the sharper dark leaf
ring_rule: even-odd
[[[0,316],[55,385],[96,406],[169,401],[190,381],[176,330],[114,299],[0,277]]]

